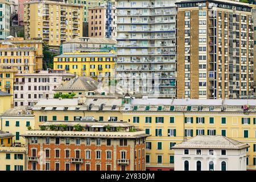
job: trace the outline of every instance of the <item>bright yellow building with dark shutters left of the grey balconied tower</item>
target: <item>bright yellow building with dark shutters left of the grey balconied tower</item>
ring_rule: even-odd
[[[64,53],[53,59],[53,69],[65,69],[78,76],[114,77],[114,52]]]

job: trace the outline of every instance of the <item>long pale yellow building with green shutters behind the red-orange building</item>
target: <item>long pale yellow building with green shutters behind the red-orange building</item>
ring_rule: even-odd
[[[249,144],[247,169],[256,169],[256,100],[183,100],[85,96],[72,100],[41,100],[35,122],[98,120],[128,121],[146,130],[146,166],[174,169],[172,146],[196,135],[224,135]]]

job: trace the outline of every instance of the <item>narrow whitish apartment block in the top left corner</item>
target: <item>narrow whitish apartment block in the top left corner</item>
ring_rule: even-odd
[[[0,1],[0,40],[10,36],[11,3],[9,0]]]

